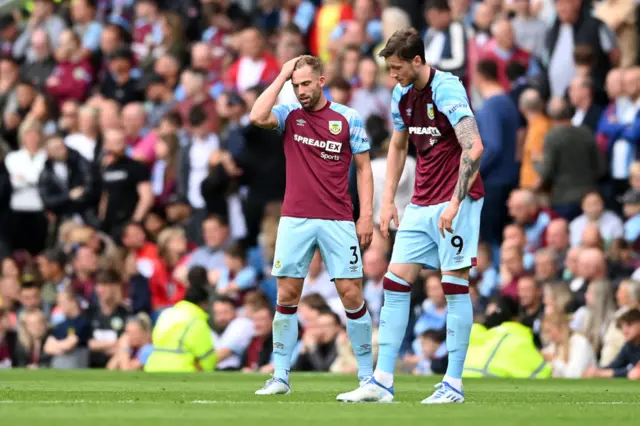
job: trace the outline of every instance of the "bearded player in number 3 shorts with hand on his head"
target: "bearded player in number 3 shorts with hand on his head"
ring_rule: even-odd
[[[274,107],[291,79],[299,104]],[[361,383],[373,374],[371,316],[362,294],[362,255],[373,236],[373,174],[369,140],[358,113],[329,102],[320,60],[301,56],[256,100],[251,122],[283,133],[287,181],[274,256],[278,301],[273,320],[273,378],[257,395],[288,394],[291,356],[298,340],[296,312],[316,247],[347,312],[347,334]],[[348,173],[355,161],[360,218],[353,222]]]

